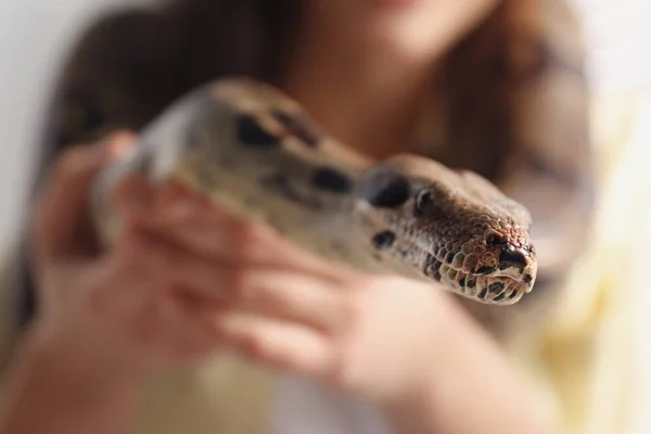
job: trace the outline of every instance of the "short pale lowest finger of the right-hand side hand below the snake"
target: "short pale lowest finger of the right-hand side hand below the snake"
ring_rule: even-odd
[[[225,344],[269,368],[324,378],[334,365],[332,343],[312,329],[232,311],[214,324]]]

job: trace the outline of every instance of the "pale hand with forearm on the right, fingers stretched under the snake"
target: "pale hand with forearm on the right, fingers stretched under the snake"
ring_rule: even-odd
[[[220,282],[225,302],[201,314],[217,341],[379,405],[396,433],[554,432],[499,346],[442,288],[350,270],[243,220],[215,230],[220,213],[186,213],[191,229],[175,239],[209,260],[197,290]],[[157,268],[174,279],[171,264]]]

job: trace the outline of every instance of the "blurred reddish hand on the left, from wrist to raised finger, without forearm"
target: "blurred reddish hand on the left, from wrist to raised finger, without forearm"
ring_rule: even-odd
[[[124,230],[115,248],[103,252],[99,246],[88,210],[90,183],[132,139],[119,133],[103,146],[79,146],[64,154],[46,184],[35,221],[35,335],[50,352],[69,355],[76,365],[88,358],[104,366],[108,376],[120,369],[151,372],[186,363],[216,348],[173,282],[151,266],[151,257],[161,253],[138,242],[141,232],[165,220],[153,207],[168,189],[155,191],[139,178],[122,182],[113,202],[125,220]],[[166,234],[158,235],[164,240]],[[188,265],[179,273],[192,272],[202,260],[181,251],[167,254],[170,263]],[[191,293],[192,288],[183,290]]]

